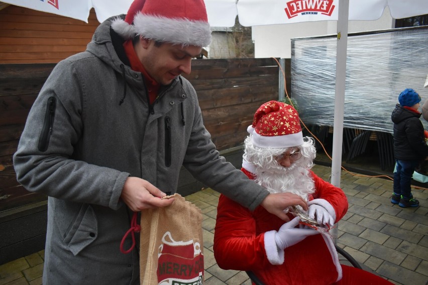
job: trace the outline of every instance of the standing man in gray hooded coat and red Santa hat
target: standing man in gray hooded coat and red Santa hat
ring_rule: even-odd
[[[139,252],[121,253],[122,237],[134,212],[172,203],[160,197],[175,193],[182,165],[250,210],[287,220],[288,206],[306,209],[216,151],[180,76],[209,42],[203,0],[136,0],[126,17],[100,24],[85,52],[56,65],[14,155],[18,181],[49,197],[45,285],[138,284]]]

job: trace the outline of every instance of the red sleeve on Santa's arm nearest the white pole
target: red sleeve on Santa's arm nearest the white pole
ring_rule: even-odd
[[[314,199],[324,199],[329,202],[336,212],[336,221],[345,216],[348,211],[348,199],[342,189],[333,184],[319,178],[312,171],[310,175],[315,183],[315,193],[312,194]]]

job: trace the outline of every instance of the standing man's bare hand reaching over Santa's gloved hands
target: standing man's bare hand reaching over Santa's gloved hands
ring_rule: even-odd
[[[306,201],[299,195],[293,193],[275,193],[269,194],[260,204],[269,213],[278,216],[281,220],[289,221],[284,210],[289,206],[300,205],[305,211],[307,210]]]

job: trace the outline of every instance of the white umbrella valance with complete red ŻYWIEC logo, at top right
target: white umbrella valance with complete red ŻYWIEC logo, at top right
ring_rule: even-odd
[[[340,20],[339,0],[239,0],[238,16],[243,26],[290,24]],[[349,4],[348,4],[349,3]],[[377,20],[388,6],[392,18],[401,19],[428,13],[426,0],[347,0],[347,20]]]

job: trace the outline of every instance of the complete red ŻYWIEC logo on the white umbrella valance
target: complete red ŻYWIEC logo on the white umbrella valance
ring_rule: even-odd
[[[288,19],[301,15],[321,13],[331,16],[335,10],[333,0],[292,0],[287,2],[285,13]]]

